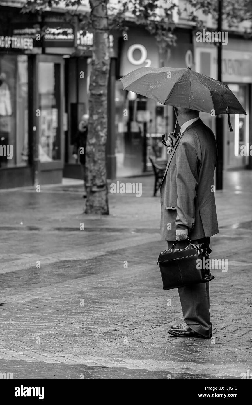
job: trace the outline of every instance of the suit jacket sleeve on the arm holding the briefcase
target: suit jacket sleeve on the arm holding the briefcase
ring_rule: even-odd
[[[195,200],[197,199],[197,153],[189,140],[181,140],[176,154],[177,217],[176,230],[188,228],[195,223]]]

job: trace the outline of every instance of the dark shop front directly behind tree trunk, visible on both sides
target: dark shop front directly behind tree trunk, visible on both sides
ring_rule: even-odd
[[[116,58],[118,55],[118,32],[110,32],[110,72],[108,78],[108,133],[107,133],[107,174],[114,177],[113,130],[114,122],[114,86],[110,85],[115,75]],[[65,165],[64,177],[82,178],[79,159],[73,156],[78,124],[83,114],[89,114],[89,82],[91,75],[93,33],[80,28],[76,31],[76,47],[74,53],[65,59],[66,113],[68,127],[65,132]],[[114,83],[113,83],[114,84]],[[113,128],[112,128],[113,129]]]

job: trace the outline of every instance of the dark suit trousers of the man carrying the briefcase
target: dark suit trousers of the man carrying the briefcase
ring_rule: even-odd
[[[193,243],[206,243],[209,246],[210,237],[193,240]],[[168,249],[174,241],[167,241]],[[184,249],[188,240],[178,241],[176,249]],[[210,337],[212,322],[209,313],[209,283],[193,284],[192,286],[179,287],[178,294],[184,316],[184,322],[195,332],[202,336]]]

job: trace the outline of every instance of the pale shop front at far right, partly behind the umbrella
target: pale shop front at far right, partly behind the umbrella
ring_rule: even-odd
[[[212,44],[198,43],[195,47],[196,70],[217,79],[217,49]],[[252,41],[228,38],[222,46],[222,81],[235,94],[244,114],[231,114],[230,132],[228,120],[223,116],[224,169],[247,168],[250,164],[249,153],[243,153],[244,146],[251,144],[251,83],[252,83]],[[215,117],[201,113],[201,118],[215,132]]]

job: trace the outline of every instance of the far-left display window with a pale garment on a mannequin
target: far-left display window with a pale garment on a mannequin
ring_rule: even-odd
[[[0,55],[0,168],[28,163],[28,57]]]

